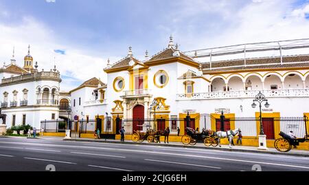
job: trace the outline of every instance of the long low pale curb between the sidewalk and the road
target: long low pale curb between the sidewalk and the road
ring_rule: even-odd
[[[250,153],[267,153],[274,155],[290,155],[298,157],[309,157],[309,153],[284,153],[277,151],[258,151],[258,150],[249,150],[249,149],[226,149],[220,147],[206,147],[206,146],[190,146],[190,145],[180,145],[180,144],[155,144],[155,143],[143,143],[143,142],[117,142],[117,141],[104,141],[104,140],[78,140],[78,139],[63,139],[65,141],[78,141],[78,142],[106,142],[106,143],[115,143],[115,144],[141,144],[141,145],[151,145],[151,146],[173,146],[179,148],[191,148],[191,149],[206,149],[206,150],[218,150],[218,151],[240,151],[240,152],[250,152]]]

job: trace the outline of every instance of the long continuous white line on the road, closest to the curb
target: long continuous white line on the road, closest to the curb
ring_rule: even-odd
[[[0,142],[1,143],[1,142]],[[12,143],[12,144],[30,144],[30,143],[16,143],[16,142],[4,142],[4,143]],[[102,148],[102,147],[93,147],[93,146],[73,146],[73,145],[60,145],[60,144],[34,144],[33,145],[45,145],[45,146],[60,146],[65,148],[83,148],[83,149],[100,149],[100,150],[112,150],[112,151],[130,151],[130,152],[138,152],[138,153],[157,153],[162,155],[180,155],[182,157],[200,157],[200,158],[208,158],[213,160],[227,160],[227,161],[234,161],[234,162],[247,162],[247,163],[254,163],[254,164],[268,164],[268,165],[274,165],[274,166],[287,166],[287,167],[293,167],[293,168],[309,168],[309,166],[295,166],[295,165],[289,165],[289,164],[275,164],[275,163],[269,163],[269,162],[258,162],[258,161],[249,161],[249,160],[236,160],[231,158],[222,158],[222,157],[208,157],[203,155],[188,155],[183,153],[163,153],[163,152],[155,152],[155,151],[137,151],[132,149],[111,149],[111,148]],[[277,157],[277,156],[274,156]]]

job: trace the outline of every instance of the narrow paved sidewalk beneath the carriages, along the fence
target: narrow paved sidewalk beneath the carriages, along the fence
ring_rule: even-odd
[[[203,143],[196,143],[196,145],[184,145],[181,142],[170,142],[168,143],[148,143],[146,140],[144,142],[133,142],[132,140],[126,140],[125,142],[120,142],[119,140],[108,140],[108,139],[88,139],[88,138],[71,138],[63,139],[67,141],[80,141],[80,142],[107,142],[107,143],[118,143],[118,144],[141,144],[141,145],[152,145],[152,146],[174,146],[174,147],[184,147],[184,148],[193,148],[193,149],[209,149],[209,150],[220,150],[220,151],[240,151],[240,152],[251,152],[251,153],[268,153],[268,154],[277,154],[277,155],[294,155],[300,157],[309,157],[309,151],[291,149],[288,152],[279,152],[275,148],[268,148],[267,151],[258,150],[257,146],[233,146],[231,149],[229,145],[219,146],[205,146]]]

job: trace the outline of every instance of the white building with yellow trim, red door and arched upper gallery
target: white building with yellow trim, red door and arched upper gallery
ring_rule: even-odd
[[[271,105],[262,109],[263,117],[301,117],[309,112],[309,55],[201,63],[180,52],[171,36],[168,48],[151,57],[146,52],[143,60],[135,58],[129,47],[128,55],[113,64],[108,61],[104,72],[107,81],[100,95],[104,98],[91,99],[95,105],[82,105],[78,110],[91,119],[100,116],[102,132],[108,128],[108,133],[117,134],[124,126],[126,133],[132,134],[149,124],[136,120],[155,117],[159,121],[150,123],[152,127],[170,127],[174,135],[179,127],[183,134],[185,122],[181,120],[188,112],[192,118],[190,127],[215,129],[216,123],[209,116],[219,118],[221,111],[228,118],[258,117],[259,110],[251,104],[259,91]],[[92,88],[80,96],[93,96],[99,86]],[[109,127],[106,116],[111,120]],[[116,125],[117,116],[121,125]],[[257,128],[253,130],[257,132]]]

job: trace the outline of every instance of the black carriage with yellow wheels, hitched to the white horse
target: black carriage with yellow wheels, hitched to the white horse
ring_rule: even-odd
[[[218,138],[214,135],[214,131],[203,131],[201,133],[196,132],[194,129],[187,127],[186,133],[181,137],[183,144],[195,145],[198,140],[203,140],[205,146],[218,146]]]

